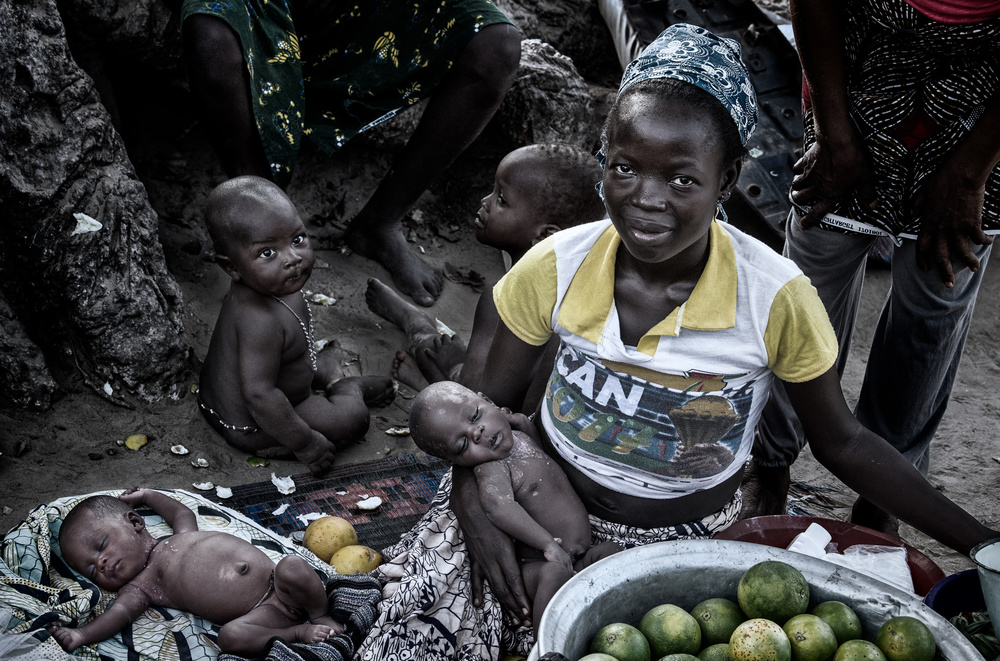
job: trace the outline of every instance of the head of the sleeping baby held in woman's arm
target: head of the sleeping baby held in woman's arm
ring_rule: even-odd
[[[500,407],[454,381],[432,383],[413,399],[410,435],[427,454],[457,466],[505,459],[514,446]]]

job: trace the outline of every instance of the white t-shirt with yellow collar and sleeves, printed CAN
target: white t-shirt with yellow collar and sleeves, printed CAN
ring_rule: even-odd
[[[691,296],[625,346],[610,220],[562,230],[493,289],[521,340],[561,339],[541,416],[556,450],[610,489],[676,498],[739,471],[773,375],[814,379],[837,340],[815,288],[788,259],[713,222]]]

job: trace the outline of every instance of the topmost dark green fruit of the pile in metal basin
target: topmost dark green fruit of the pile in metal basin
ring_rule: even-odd
[[[782,625],[809,608],[809,584],[795,567],[780,560],[765,560],[743,572],[736,586],[736,601],[749,618],[764,618]]]

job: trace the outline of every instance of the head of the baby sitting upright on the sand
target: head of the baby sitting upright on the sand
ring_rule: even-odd
[[[261,177],[235,177],[217,186],[205,205],[216,261],[236,282],[265,295],[300,290],[316,257],[295,205]]]

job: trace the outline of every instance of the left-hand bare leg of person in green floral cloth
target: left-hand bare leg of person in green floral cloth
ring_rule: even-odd
[[[239,37],[225,21],[206,14],[188,17],[183,37],[191,90],[226,175],[270,178]]]

